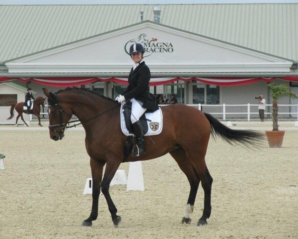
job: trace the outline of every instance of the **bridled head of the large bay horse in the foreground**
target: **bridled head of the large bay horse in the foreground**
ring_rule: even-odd
[[[73,112],[68,104],[60,100],[58,94],[49,92],[46,88],[42,90],[48,97],[50,138],[57,141],[64,137],[64,130],[67,122],[72,118]]]

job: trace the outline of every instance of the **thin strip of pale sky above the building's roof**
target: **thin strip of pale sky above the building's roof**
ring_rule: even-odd
[[[0,0],[0,4],[298,3],[298,0]]]

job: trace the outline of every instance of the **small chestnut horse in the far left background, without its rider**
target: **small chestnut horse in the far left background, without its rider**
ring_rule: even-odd
[[[47,98],[43,98],[41,96],[37,97],[34,101],[33,101],[33,109],[31,110],[33,115],[37,116],[38,118],[38,125],[42,126],[41,123],[40,123],[40,106],[42,106],[43,108],[45,107],[45,100]],[[24,118],[23,118],[23,113],[25,114],[28,114],[28,110],[24,110],[23,109],[23,106],[24,106],[24,102],[19,102],[19,103],[13,103],[10,107],[10,117],[7,118],[7,119],[12,119],[14,117],[14,114],[13,114],[13,109],[16,110],[16,112],[18,113],[17,117],[16,117],[16,120],[15,120],[15,124],[18,126],[17,124],[17,120],[21,117],[21,119],[23,120],[23,122],[29,126]],[[28,114],[29,115],[29,114]]]

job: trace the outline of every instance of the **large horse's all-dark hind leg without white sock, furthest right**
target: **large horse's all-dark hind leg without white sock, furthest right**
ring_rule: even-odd
[[[190,159],[194,168],[196,169],[201,179],[202,187],[204,189],[204,210],[202,217],[197,223],[197,226],[207,224],[207,219],[211,215],[211,186],[213,178],[211,177],[205,163],[206,151],[203,151],[201,151],[199,148],[198,150],[195,150],[194,145],[192,145],[192,150],[186,150],[186,155]]]

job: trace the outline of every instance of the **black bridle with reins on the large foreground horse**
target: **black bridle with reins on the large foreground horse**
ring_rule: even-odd
[[[71,116],[70,114],[68,114],[68,113],[63,109],[62,105],[60,104],[61,100],[60,100],[59,96],[58,96],[56,93],[52,93],[52,94],[55,96],[55,98],[56,98],[56,102],[57,102],[57,103],[56,103],[55,105],[49,105],[49,101],[48,101],[48,106],[49,106],[49,107],[58,107],[58,110],[59,110],[59,118],[60,118],[60,124],[49,125],[49,129],[52,130],[52,131],[54,131],[54,132],[57,132],[57,133],[64,133],[64,131],[65,131],[67,128],[76,127],[77,125],[82,124],[82,123],[85,123],[85,122],[87,122],[87,121],[89,121],[89,120],[91,120],[91,119],[94,119],[94,118],[98,117],[98,116],[101,116],[102,114],[106,113],[107,111],[111,110],[112,108],[118,106],[118,104],[116,104],[116,105],[114,105],[114,106],[112,106],[112,107],[110,107],[110,108],[104,110],[103,112],[100,112],[100,113],[96,114],[95,116],[93,116],[93,117],[91,117],[91,118],[89,118],[89,119],[86,119],[86,120],[84,120],[84,121],[82,121],[82,122],[80,122],[80,123],[76,123],[76,124],[67,126],[67,124],[74,123],[74,122],[77,122],[77,121],[79,121],[79,120],[77,119],[77,120],[73,120],[73,121],[64,122],[64,119],[63,119],[63,113],[67,114],[69,117],[72,117],[72,116]],[[62,127],[62,128],[61,128],[60,131],[57,131],[57,130],[55,129],[55,127]]]

